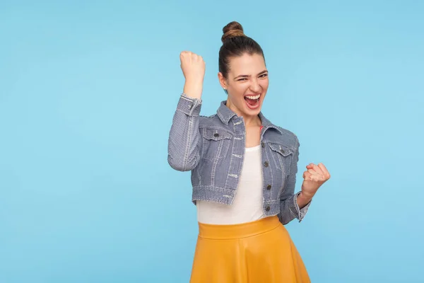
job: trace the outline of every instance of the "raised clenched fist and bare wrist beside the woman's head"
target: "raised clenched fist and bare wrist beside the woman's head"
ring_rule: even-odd
[[[201,98],[205,76],[204,59],[193,52],[183,51],[179,54],[182,74],[184,74],[184,93],[192,98]]]

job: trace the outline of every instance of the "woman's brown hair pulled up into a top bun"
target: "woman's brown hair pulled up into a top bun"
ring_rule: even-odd
[[[232,21],[223,28],[223,36],[221,41],[223,46],[219,50],[218,66],[219,71],[224,78],[228,78],[228,70],[230,69],[230,58],[239,57],[247,53],[249,55],[259,54],[264,57],[264,52],[258,42],[245,35],[242,25],[236,21]],[[265,57],[264,57],[265,60]]]

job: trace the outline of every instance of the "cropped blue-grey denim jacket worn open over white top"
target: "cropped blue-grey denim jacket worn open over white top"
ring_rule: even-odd
[[[216,114],[199,115],[201,100],[179,97],[170,136],[167,161],[177,171],[191,171],[192,202],[206,200],[231,205],[245,154],[243,117],[220,103]],[[299,141],[293,132],[261,119],[262,196],[265,216],[278,215],[282,224],[302,221],[310,203],[300,209],[294,194]]]

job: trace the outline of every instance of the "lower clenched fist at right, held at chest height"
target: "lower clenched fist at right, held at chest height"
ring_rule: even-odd
[[[302,195],[308,199],[312,199],[318,188],[326,180],[329,180],[331,176],[323,163],[319,163],[318,165],[309,163],[306,168],[307,171],[303,172]]]

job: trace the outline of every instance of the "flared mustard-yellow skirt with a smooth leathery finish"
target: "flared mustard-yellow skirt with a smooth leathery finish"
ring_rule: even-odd
[[[199,223],[191,283],[310,282],[278,216],[234,225]]]

